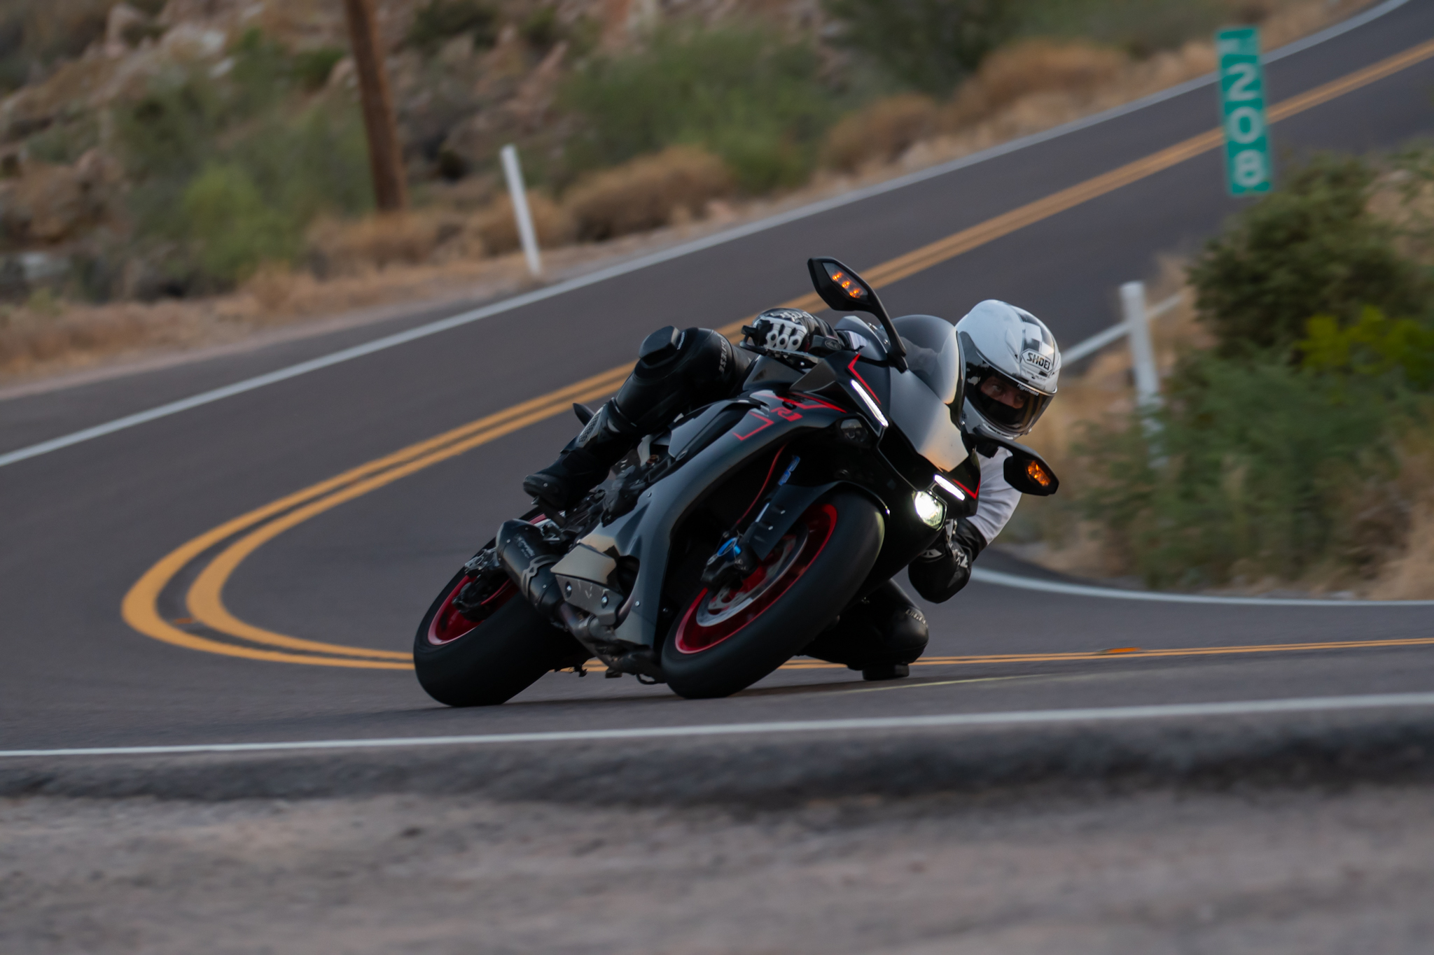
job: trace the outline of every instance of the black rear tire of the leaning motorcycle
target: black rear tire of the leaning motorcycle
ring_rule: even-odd
[[[435,619],[456,620],[449,607],[463,587],[463,571],[439,591],[413,637],[413,670],[419,686],[447,706],[496,706],[513,699],[548,670],[576,666],[587,650],[519,597],[512,584],[498,597],[506,600],[467,633],[436,641]],[[463,624],[459,624],[460,627]]]

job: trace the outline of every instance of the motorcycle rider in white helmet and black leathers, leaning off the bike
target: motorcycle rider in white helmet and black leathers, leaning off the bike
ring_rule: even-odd
[[[833,331],[790,308],[761,312],[746,331],[774,351],[806,351],[817,335],[846,336],[853,348],[862,344],[859,334]],[[1060,349],[1050,329],[1024,309],[988,299],[956,324],[956,336],[965,388],[958,391],[962,407],[952,408],[952,418],[968,434],[978,424],[1010,440],[1030,432],[1055,397],[1060,375]],[[734,348],[711,329],[660,328],[642,341],[637,365],[618,394],[598,408],[554,464],[523,480],[523,491],[554,510],[574,507],[642,435],[663,431],[684,411],[740,394],[756,361],[754,352]],[[974,451],[981,464],[977,513],[946,521],[935,544],[906,570],[916,593],[932,603],[949,600],[967,586],[972,561],[1011,520],[1021,498],[1002,472],[1011,452],[989,441],[977,441]],[[888,580],[843,610],[803,653],[860,670],[868,680],[889,680],[908,676],[928,637],[921,610]]]

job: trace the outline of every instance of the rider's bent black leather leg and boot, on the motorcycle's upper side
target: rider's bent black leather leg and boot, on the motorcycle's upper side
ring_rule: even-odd
[[[618,394],[598,409],[558,460],[523,480],[523,491],[565,511],[602,483],[645,434],[678,414],[741,389],[756,357],[706,328],[668,325],[648,335]]]

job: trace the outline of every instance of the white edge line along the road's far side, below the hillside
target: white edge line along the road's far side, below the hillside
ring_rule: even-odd
[[[1378,7],[1374,7],[1372,10],[1367,10],[1365,13],[1357,17],[1351,17],[1349,20],[1345,20],[1332,27],[1321,30],[1319,33],[1315,33],[1312,36],[1308,36],[1304,40],[1273,50],[1272,53],[1265,54],[1263,62],[1273,63],[1275,60],[1281,60],[1293,53],[1299,53],[1312,46],[1324,43],[1325,40],[1332,40],[1336,36],[1348,33],[1349,30],[1355,30],[1364,26],[1365,23],[1369,23],[1371,20],[1375,20],[1387,13],[1391,13],[1398,7],[1402,7],[1405,3],[1408,3],[1408,0],[1387,0],[1387,3],[1382,3]],[[158,408],[139,411],[136,414],[125,415],[123,418],[116,418],[113,421],[108,421],[105,424],[99,424],[92,428],[83,428],[80,431],[60,435],[57,438],[50,438],[49,441],[40,441],[39,444],[32,444],[24,448],[17,448],[14,451],[0,454],[0,467],[6,467],[7,464],[16,464],[19,461],[26,461],[29,458],[34,458],[42,454],[49,454],[50,451],[59,451],[60,448],[67,448],[80,444],[83,441],[90,441],[92,438],[115,434],[116,431],[123,431],[125,428],[133,428],[135,425],[146,424],[158,418],[165,418],[174,414],[179,414],[181,411],[189,411],[191,408],[198,408],[199,405],[206,405],[214,401],[232,398],[234,395],[244,394],[245,391],[254,391],[255,388],[272,385],[275,382],[285,381],[288,378],[295,378],[298,375],[304,375],[311,371],[318,371],[320,368],[328,368],[330,365],[337,365],[351,358],[361,358],[363,355],[371,355],[373,352],[383,351],[386,348],[403,345],[412,341],[417,341],[420,338],[426,338],[429,335],[437,335],[439,332],[446,332],[453,328],[459,328],[460,325],[467,325],[469,322],[476,322],[483,318],[498,315],[500,312],[512,311],[515,308],[522,308],[525,305],[532,305],[533,302],[541,302],[543,299],[554,298],[556,295],[565,295],[566,292],[572,292],[575,289],[585,288],[588,285],[605,282],[607,279],[617,278],[619,275],[627,275],[628,272],[637,272],[650,268],[652,265],[658,265],[661,262],[668,262],[671,259],[681,258],[684,255],[701,252],[703,249],[710,249],[713,246],[723,245],[726,242],[733,242],[736,239],[754,235],[757,232],[764,232],[767,229],[786,225],[789,222],[796,222],[797,219],[804,219],[813,215],[819,215],[822,212],[827,212],[830,209],[837,209],[840,206],[850,205],[853,202],[860,202],[863,199],[882,195],[885,192],[903,189],[905,186],[915,185],[926,179],[944,176],[946,173],[956,172],[958,169],[965,169],[967,166],[974,166],[977,163],[997,159],[999,156],[1005,156],[1007,153],[1012,153],[1018,149],[1027,149],[1030,146],[1035,146],[1038,143],[1044,143],[1051,139],[1057,139],[1060,136],[1067,136],[1070,133],[1088,129],[1091,126],[1108,122],[1111,119],[1117,119],[1120,116],[1126,116],[1129,113],[1146,109],[1149,106],[1154,106],[1156,103],[1163,103],[1169,99],[1174,99],[1176,96],[1182,96],[1184,93],[1189,93],[1190,90],[1207,86],[1213,82],[1215,82],[1215,73],[1206,73],[1205,76],[1199,76],[1193,80],[1186,80],[1184,83],[1179,83],[1166,90],[1160,90],[1159,93],[1152,93],[1150,96],[1144,96],[1123,106],[1116,106],[1103,113],[1096,113],[1094,116],[1077,119],[1041,133],[1022,136],[1021,139],[1014,139],[1008,143],[992,146],[991,149],[985,149],[982,152],[972,153],[969,156],[962,156],[961,159],[954,159],[951,162],[941,163],[929,169],[922,169],[909,173],[906,176],[899,176],[896,179],[889,179],[886,182],[866,186],[863,189],[856,189],[853,192],[847,192],[840,196],[833,196],[822,202],[815,202],[812,205],[793,209],[790,212],[783,212],[770,216],[767,219],[760,219],[757,222],[737,226],[726,232],[718,232],[717,235],[707,236],[704,239],[697,239],[694,242],[678,245],[663,252],[654,252],[651,255],[632,259],[630,262],[618,263],[605,269],[599,269],[597,272],[591,272],[584,276],[568,279],[566,282],[559,282],[558,285],[551,285],[548,288],[535,289],[532,292],[526,292],[515,298],[503,299],[502,302],[496,302],[493,305],[486,305],[483,308],[460,312],[457,315],[452,315],[437,322],[430,322],[427,325],[410,328],[409,331],[399,332],[396,335],[387,335],[384,338],[379,338],[363,345],[344,348],[343,351],[337,351],[330,355],[323,355],[320,358],[313,358],[310,361],[304,361],[297,365],[290,365],[288,368],[280,368],[265,375],[247,378],[232,385],[225,385],[224,388],[205,391],[198,395],[192,395],[189,398],[171,401],[169,404],[159,405]]]

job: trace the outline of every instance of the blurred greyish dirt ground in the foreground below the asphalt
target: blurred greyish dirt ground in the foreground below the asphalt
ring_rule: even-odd
[[[0,951],[1428,952],[1434,790],[0,802]]]

